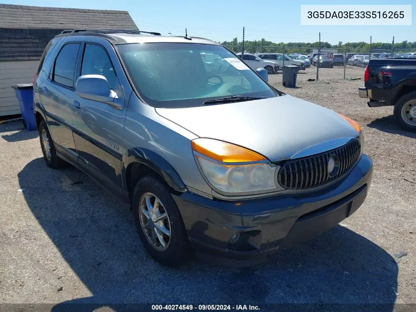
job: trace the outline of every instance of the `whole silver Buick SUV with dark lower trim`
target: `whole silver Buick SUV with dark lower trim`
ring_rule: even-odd
[[[65,31],[34,77],[44,159],[131,207],[165,265],[258,263],[350,216],[372,173],[356,122],[265,80],[203,38]]]

